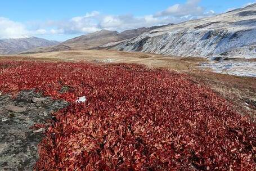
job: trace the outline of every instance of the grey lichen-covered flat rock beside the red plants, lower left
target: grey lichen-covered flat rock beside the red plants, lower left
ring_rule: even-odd
[[[33,103],[32,98],[44,98]],[[22,91],[13,99],[0,96],[0,170],[33,170],[38,160],[37,145],[44,128],[30,129],[35,123],[45,124],[53,111],[68,106],[65,101],[42,97],[33,91]]]

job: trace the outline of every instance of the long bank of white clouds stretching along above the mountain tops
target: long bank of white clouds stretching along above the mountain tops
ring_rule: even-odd
[[[92,11],[68,20],[27,22],[30,29],[27,29],[25,24],[0,18],[0,38],[17,35],[86,34],[101,29],[122,31],[215,15],[213,10],[206,11],[204,7],[199,6],[199,2],[200,0],[187,0],[183,4],[174,4],[164,11],[145,16],[104,15]]]

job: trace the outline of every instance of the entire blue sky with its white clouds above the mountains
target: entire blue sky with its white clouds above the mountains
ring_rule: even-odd
[[[8,0],[0,6],[0,38],[34,35],[65,40],[100,29],[132,29],[208,17],[254,0]]]

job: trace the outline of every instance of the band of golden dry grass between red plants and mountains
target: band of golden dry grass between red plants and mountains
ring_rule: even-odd
[[[35,53],[29,55],[12,55],[2,56],[0,59],[13,60],[39,60],[39,61],[86,61],[86,62],[105,62],[108,59],[113,63],[136,63],[143,64],[149,68],[169,68],[173,70],[188,70],[197,66],[199,62],[205,61],[200,58],[176,58],[164,57],[161,55],[122,52],[122,51],[105,51],[105,50],[84,50],[84,51],[62,51]]]

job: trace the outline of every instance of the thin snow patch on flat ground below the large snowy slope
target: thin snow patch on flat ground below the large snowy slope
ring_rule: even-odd
[[[256,77],[256,62],[250,61],[204,62],[201,68],[210,68],[215,73]]]

